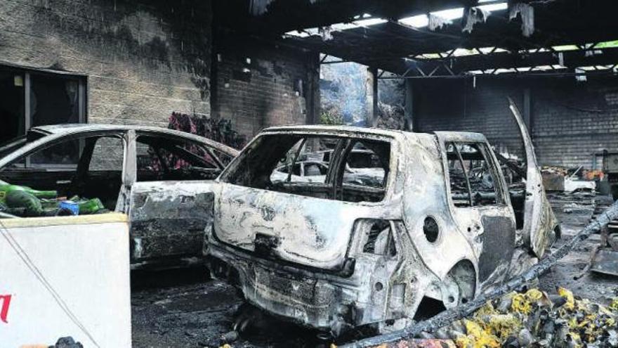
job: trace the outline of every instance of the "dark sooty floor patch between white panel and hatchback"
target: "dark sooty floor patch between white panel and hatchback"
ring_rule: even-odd
[[[244,304],[235,288],[199,270],[139,273],[131,296],[133,348],[220,347],[235,321],[254,326],[234,347],[315,347],[316,333],[265,316]]]

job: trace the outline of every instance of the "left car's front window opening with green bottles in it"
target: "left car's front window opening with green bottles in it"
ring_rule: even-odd
[[[0,171],[4,217],[100,214],[115,209],[124,141],[82,136],[18,157]]]

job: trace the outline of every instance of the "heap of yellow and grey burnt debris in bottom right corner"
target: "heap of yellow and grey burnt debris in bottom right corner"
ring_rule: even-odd
[[[618,297],[610,306],[537,289],[511,292],[487,302],[468,318],[425,339],[453,340],[457,347],[618,347]]]

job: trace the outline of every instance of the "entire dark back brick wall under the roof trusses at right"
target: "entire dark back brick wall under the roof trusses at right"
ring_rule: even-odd
[[[508,110],[511,96],[523,112],[530,89],[532,140],[541,165],[592,166],[592,153],[618,151],[618,79],[415,80],[416,131],[479,131],[497,148],[521,155]]]

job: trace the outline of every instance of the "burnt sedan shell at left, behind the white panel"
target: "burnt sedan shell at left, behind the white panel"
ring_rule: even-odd
[[[70,198],[99,198],[129,215],[132,268],[202,259],[213,179],[237,150],[158,127],[34,127],[0,147],[0,180]]]

